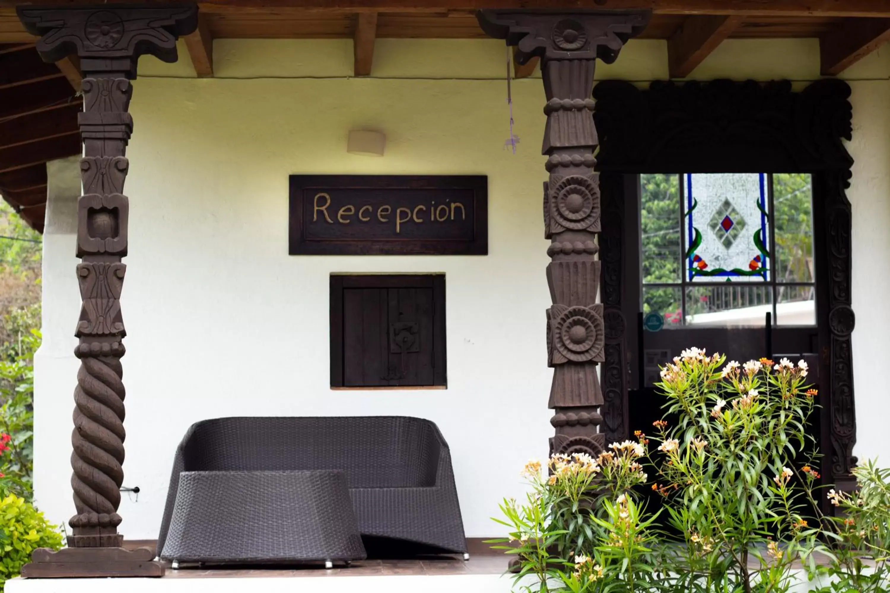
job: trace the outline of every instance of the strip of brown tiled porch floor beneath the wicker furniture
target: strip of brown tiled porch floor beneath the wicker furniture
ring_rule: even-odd
[[[430,556],[410,560],[361,560],[351,566],[336,565],[325,570],[321,565],[305,566],[214,566],[184,565],[174,571],[167,568],[166,579],[226,578],[226,577],[319,577],[319,576],[392,576],[449,575],[449,574],[500,574],[506,571],[510,557],[506,555],[476,554],[469,560],[452,556]]]

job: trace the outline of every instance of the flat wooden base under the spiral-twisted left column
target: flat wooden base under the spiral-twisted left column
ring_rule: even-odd
[[[21,567],[26,579],[76,577],[161,577],[164,565],[154,561],[152,549],[65,548],[34,550],[31,562]]]

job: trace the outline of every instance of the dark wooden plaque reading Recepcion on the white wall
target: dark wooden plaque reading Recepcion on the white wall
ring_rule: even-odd
[[[291,255],[487,255],[484,175],[291,175]]]

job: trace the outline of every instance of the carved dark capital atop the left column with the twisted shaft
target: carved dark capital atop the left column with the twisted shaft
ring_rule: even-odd
[[[45,61],[77,53],[87,71],[125,72],[136,77],[143,54],[174,62],[176,40],[198,28],[196,4],[102,4],[19,6],[19,19],[40,36],[37,52]]]

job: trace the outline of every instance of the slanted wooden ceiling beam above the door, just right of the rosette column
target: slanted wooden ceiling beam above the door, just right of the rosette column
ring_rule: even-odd
[[[739,28],[741,16],[694,16],[667,39],[667,66],[671,78],[685,78]]]

